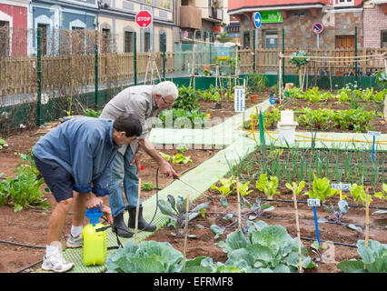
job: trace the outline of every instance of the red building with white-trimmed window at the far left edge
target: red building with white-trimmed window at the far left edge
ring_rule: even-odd
[[[29,0],[0,2],[0,56],[27,55]]]

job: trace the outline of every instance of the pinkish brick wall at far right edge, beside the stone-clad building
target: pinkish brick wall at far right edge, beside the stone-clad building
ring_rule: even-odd
[[[387,15],[381,5],[364,8],[363,15],[364,47],[381,47],[381,30],[387,29]]]

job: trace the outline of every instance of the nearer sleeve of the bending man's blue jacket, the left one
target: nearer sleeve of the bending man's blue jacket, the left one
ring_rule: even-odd
[[[88,193],[92,191],[93,151],[89,140],[90,135],[84,133],[84,136],[80,141],[74,141],[73,189],[79,193]]]

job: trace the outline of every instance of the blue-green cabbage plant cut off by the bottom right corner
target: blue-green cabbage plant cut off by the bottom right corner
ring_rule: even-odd
[[[387,273],[387,246],[370,239],[357,241],[357,252],[361,260],[344,260],[337,267],[344,273]],[[365,266],[365,268],[364,268]]]

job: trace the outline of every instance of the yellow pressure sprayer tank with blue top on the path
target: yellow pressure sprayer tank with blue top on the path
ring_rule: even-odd
[[[106,227],[99,223],[99,218],[104,214],[100,212],[101,206],[86,209],[85,215],[90,219],[90,224],[84,226],[82,232],[84,239],[84,265],[103,265],[107,255],[106,230],[110,226]]]

